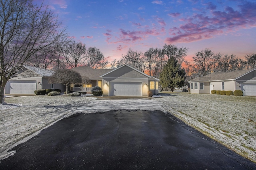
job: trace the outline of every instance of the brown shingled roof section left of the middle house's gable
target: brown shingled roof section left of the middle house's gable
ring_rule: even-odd
[[[71,68],[71,70],[80,73],[81,76],[88,77],[90,80],[101,80],[100,75],[106,74],[107,72],[110,72],[113,69],[94,69],[89,66],[79,66]]]

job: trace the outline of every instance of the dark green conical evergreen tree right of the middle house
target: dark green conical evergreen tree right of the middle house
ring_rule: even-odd
[[[180,63],[174,57],[170,57],[160,73],[160,85],[163,88],[170,88],[173,92],[174,87],[184,85],[185,79],[185,69],[181,69]]]

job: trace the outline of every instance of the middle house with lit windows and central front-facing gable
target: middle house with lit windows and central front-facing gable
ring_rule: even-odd
[[[90,91],[94,86],[100,86],[104,96],[147,96],[148,91],[158,94],[159,79],[148,76],[128,64],[116,69],[93,69],[88,66],[71,68],[91,80],[82,87],[72,84],[71,90]]]

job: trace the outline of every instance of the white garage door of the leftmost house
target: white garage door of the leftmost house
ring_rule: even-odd
[[[34,94],[36,81],[11,80],[6,84],[6,94]]]

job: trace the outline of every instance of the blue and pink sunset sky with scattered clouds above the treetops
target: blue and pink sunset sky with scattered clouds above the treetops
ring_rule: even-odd
[[[36,3],[42,0],[35,0]],[[164,44],[243,58],[256,53],[255,0],[44,0],[74,41],[120,59]]]

